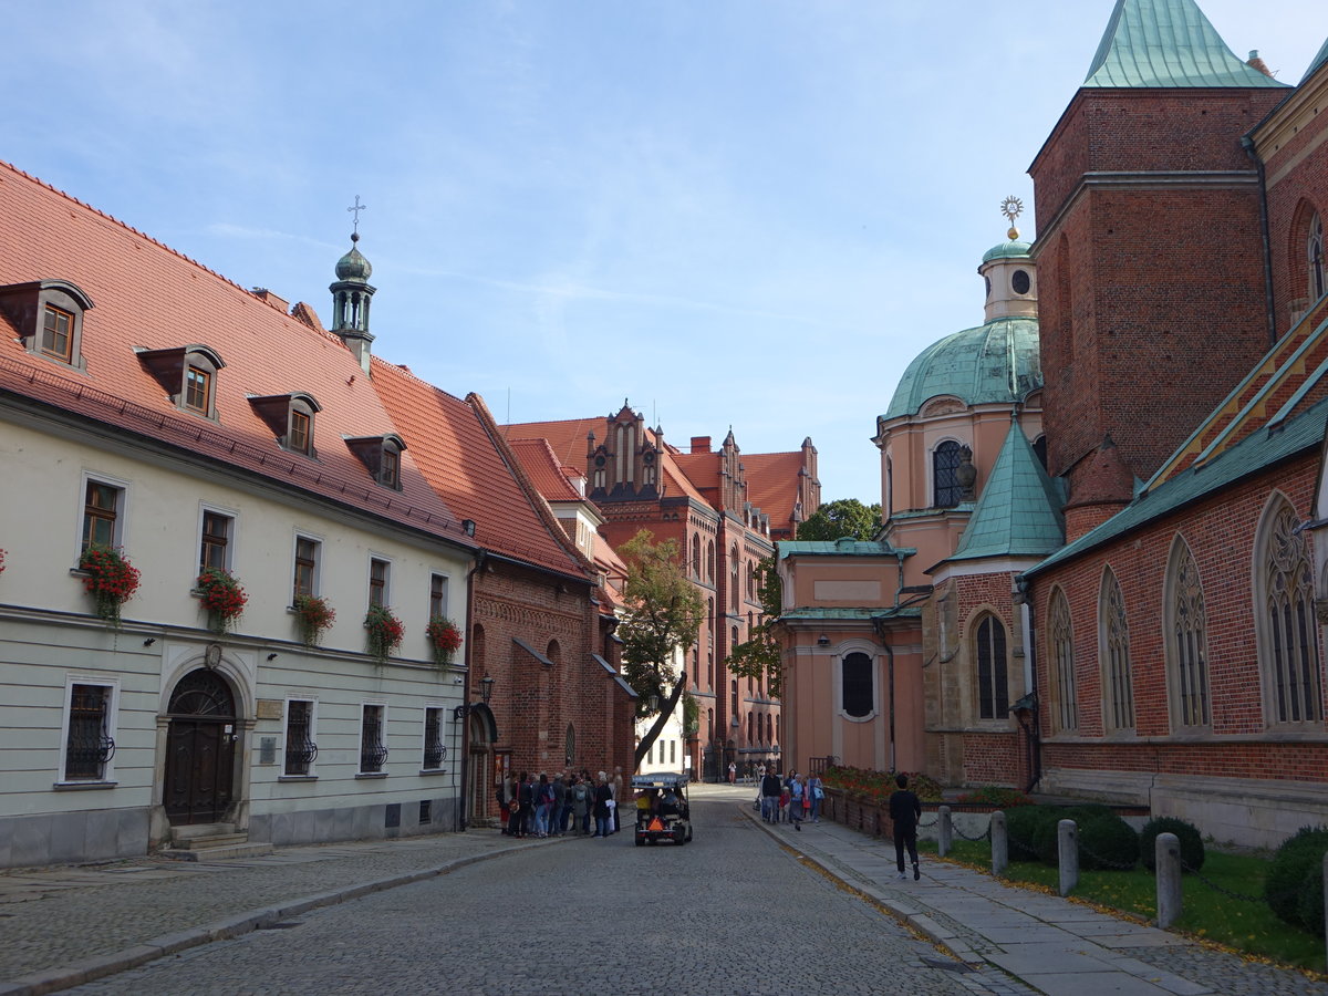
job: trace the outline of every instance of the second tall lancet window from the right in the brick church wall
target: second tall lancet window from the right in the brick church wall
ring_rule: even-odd
[[[1171,693],[1171,720],[1177,726],[1207,726],[1208,705],[1208,615],[1199,586],[1199,568],[1183,539],[1171,551],[1167,571],[1167,664]]]

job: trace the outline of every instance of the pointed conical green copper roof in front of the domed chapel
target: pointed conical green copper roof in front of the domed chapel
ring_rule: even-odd
[[[1065,543],[1060,487],[1019,424],[1011,420],[996,465],[951,560],[980,556],[1046,556]]]

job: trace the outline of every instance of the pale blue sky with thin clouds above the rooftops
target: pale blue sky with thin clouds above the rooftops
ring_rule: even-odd
[[[0,158],[325,324],[359,197],[376,355],[503,422],[810,436],[870,503],[1113,5],[0,0]],[[1321,0],[1201,7],[1291,84],[1328,37]]]

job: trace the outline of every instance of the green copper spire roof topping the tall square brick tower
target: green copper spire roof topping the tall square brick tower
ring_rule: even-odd
[[[1286,86],[1232,54],[1194,0],[1117,0],[1085,86]]]

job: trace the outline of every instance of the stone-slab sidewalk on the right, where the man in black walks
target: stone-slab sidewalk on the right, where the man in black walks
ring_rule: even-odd
[[[744,793],[744,799],[750,790]],[[922,880],[898,879],[895,849],[839,823],[753,823],[967,963],[997,965],[1048,996],[1328,996],[1328,983],[1246,961],[1181,935],[1003,884],[923,855]]]

